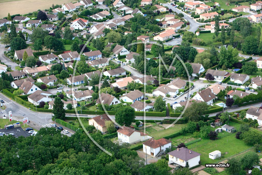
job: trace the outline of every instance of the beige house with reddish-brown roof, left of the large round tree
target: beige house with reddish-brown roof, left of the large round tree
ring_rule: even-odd
[[[106,114],[88,119],[89,125],[95,126],[95,128],[102,133],[107,132],[106,121],[112,121]]]

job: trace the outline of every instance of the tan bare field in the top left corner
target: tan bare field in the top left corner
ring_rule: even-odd
[[[0,10],[0,18],[7,17],[7,14],[10,13],[10,15],[15,14],[27,14],[30,12],[40,10],[49,9],[52,4],[64,4],[69,2],[77,2],[72,0],[0,0],[0,7],[2,10]]]

